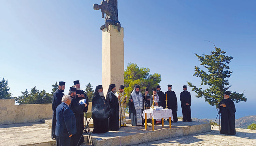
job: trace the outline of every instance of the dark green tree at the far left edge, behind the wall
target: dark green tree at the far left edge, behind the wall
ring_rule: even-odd
[[[0,99],[12,99],[12,93],[9,93],[8,80],[4,78],[0,81]]]

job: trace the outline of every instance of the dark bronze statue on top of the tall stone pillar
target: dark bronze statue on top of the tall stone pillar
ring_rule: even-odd
[[[117,26],[120,32],[121,23],[118,21],[117,0],[103,0],[100,5],[95,3],[93,9],[101,10],[102,18],[105,18],[105,24],[100,27],[100,30],[106,28],[106,30],[109,31],[109,25],[112,24]]]

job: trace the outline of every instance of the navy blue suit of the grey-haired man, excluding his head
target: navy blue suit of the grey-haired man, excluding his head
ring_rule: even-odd
[[[56,142],[57,146],[69,146],[69,135],[76,133],[75,116],[66,103],[56,108]]]

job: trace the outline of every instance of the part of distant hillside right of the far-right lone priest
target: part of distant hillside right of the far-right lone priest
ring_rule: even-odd
[[[245,128],[247,129],[248,125],[256,124],[256,115],[247,115],[243,116],[239,119],[236,119],[236,127],[237,128]]]

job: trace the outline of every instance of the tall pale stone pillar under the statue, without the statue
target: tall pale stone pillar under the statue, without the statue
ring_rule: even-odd
[[[104,96],[110,84],[116,84],[116,90],[124,85],[124,28],[120,32],[117,26],[109,25],[102,30],[102,87]]]

